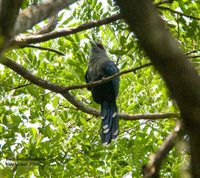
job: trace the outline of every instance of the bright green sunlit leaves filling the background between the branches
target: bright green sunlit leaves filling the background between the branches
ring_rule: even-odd
[[[24,1],[24,7],[28,5]],[[183,14],[198,17],[198,1],[174,1],[162,5]],[[118,13],[112,0],[80,1],[59,13],[59,28],[71,28]],[[185,53],[199,54],[199,21],[159,10],[167,27]],[[89,40],[102,41],[119,69],[126,70],[149,62],[128,31],[123,20],[40,45],[65,54],[24,48],[7,56],[34,75],[62,86],[84,84],[89,60]],[[200,58],[188,59],[198,64]],[[196,66],[196,65],[195,65]],[[197,66],[198,68],[198,66]],[[156,152],[172,131],[173,119],[156,121],[120,121],[119,138],[108,147],[99,138],[100,118],[87,115],[62,96],[28,82],[0,66],[0,177],[141,177],[141,167]],[[162,77],[153,66],[122,75],[118,97],[119,111],[129,114],[177,112]],[[87,89],[71,93],[90,107],[99,108]],[[185,154],[173,149],[164,165],[162,177],[177,177]],[[24,166],[8,166],[14,162]]]

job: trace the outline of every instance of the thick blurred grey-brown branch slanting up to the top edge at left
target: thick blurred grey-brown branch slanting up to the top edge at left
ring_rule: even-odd
[[[39,5],[33,5],[23,11],[17,18],[14,34],[22,33],[60,10],[73,4],[76,0],[44,0]]]

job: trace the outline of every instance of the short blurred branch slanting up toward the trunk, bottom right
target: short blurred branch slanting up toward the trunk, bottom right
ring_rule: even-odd
[[[149,165],[143,166],[142,172],[144,178],[159,178],[159,172],[162,166],[162,162],[174,147],[180,128],[181,124],[178,121],[176,127],[174,128],[174,131],[166,138],[158,151],[151,156]]]

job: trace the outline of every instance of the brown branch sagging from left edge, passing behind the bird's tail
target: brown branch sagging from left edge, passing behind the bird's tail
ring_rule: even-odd
[[[66,87],[62,87],[62,86],[52,84],[52,83],[47,82],[47,81],[45,81],[45,80],[43,80],[43,79],[41,79],[37,76],[34,76],[27,69],[20,66],[19,64],[17,64],[16,62],[12,61],[9,58],[2,58],[0,63],[7,66],[10,69],[12,69],[16,73],[18,73],[19,75],[21,75],[22,77],[27,79],[29,82],[31,82],[31,83],[33,83],[37,86],[40,86],[44,89],[48,89],[48,90],[53,91],[55,93],[61,94],[72,105],[77,107],[77,109],[79,109],[79,110],[81,110],[85,113],[97,116],[97,117],[100,116],[99,110],[96,110],[96,109],[93,109],[93,108],[90,108],[90,107],[84,105],[82,102],[77,100],[72,94],[70,94],[69,91],[65,89]],[[163,113],[162,114],[161,113],[161,114],[129,115],[129,114],[119,113],[119,117],[121,119],[124,119],[124,120],[139,120],[139,119],[154,120],[154,119],[175,118],[175,117],[179,117],[179,114],[176,114],[176,113]]]

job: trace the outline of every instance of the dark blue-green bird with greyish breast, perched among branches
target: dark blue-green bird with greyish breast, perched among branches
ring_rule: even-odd
[[[102,80],[119,72],[101,43],[91,41],[91,54],[85,74],[86,83]],[[101,105],[101,140],[108,145],[119,134],[119,116],[116,99],[119,93],[119,76],[100,85],[87,87],[94,101]]]

